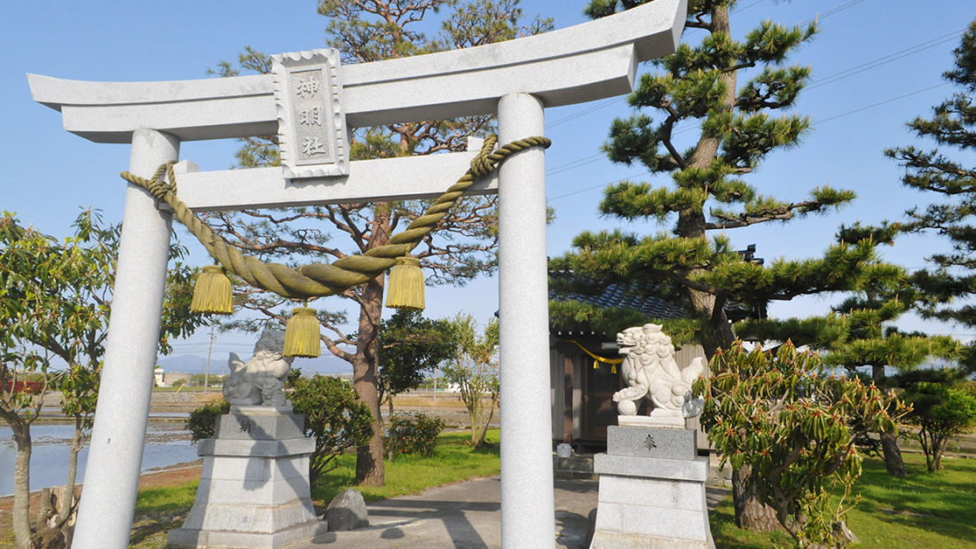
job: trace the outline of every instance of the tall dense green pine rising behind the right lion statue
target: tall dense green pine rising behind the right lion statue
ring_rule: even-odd
[[[603,17],[644,3],[593,0],[587,13]],[[729,20],[735,3],[688,2],[686,31],[704,30],[704,38],[694,46],[682,43],[673,55],[655,61],[659,71],[643,75],[630,96],[631,106],[646,110],[614,121],[604,147],[613,162],[670,175],[673,187],[620,182],[605,191],[600,211],[623,220],[673,221],[671,232],[585,232],[575,239],[574,252],[550,265],[600,284],[625,282],[646,291],[670,287],[689,304],[699,324],[697,338],[710,358],[735,340],[725,312],[730,301],[841,290],[856,281],[863,262],[874,258],[870,241],[841,242],[820,258],[766,265],[733,248],[729,229],[828,213],[854,198],[853,192],[825,185],[805,199],[782,201],[760,194],[744,179],[770,153],[795,146],[809,128],[808,118],[774,113],[793,106],[809,78],[808,67],[783,63],[815,34],[816,23],[785,27],[766,21],[737,41]],[[748,75],[742,85],[740,73]],[[682,132],[698,126],[697,137],[684,149],[675,139],[679,124]],[[738,490],[748,475],[748,468],[734,472],[737,521],[750,529],[775,528],[770,509]]]

